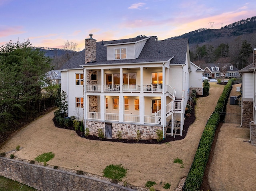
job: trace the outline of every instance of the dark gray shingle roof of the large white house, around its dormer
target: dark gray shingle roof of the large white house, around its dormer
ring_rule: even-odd
[[[87,63],[86,65],[100,64],[122,64],[122,63],[143,63],[143,62],[158,62],[167,61],[174,56],[170,64],[184,64],[186,61],[186,53],[188,47],[188,39],[172,39],[157,41],[156,36],[150,37],[144,45],[140,55],[136,59],[122,59],[107,61],[107,49],[104,44],[135,42],[147,37],[138,37],[134,39],[122,39],[114,41],[101,41],[96,43],[96,62]],[[85,65],[85,51],[81,51],[79,55],[72,57],[64,64],[62,69],[81,68],[80,65]]]

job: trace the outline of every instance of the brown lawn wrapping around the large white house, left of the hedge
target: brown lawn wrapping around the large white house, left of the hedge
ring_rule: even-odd
[[[102,175],[107,165],[121,163],[128,169],[123,181],[140,187],[144,187],[147,181],[155,181],[158,185],[154,188],[161,191],[165,190],[162,186],[166,182],[171,183],[169,190],[174,190],[180,178],[188,174],[205,124],[223,88],[224,85],[210,83],[210,95],[197,99],[196,121],[189,127],[183,140],[164,144],[87,140],[72,130],[56,128],[52,121],[53,112],[50,112],[16,132],[0,152],[14,150],[20,145],[22,150],[16,152],[15,156],[27,160],[34,160],[45,152],[53,152],[55,157],[48,164],[96,175]],[[173,163],[175,158],[183,160],[184,168]],[[219,172],[217,177],[221,175]]]

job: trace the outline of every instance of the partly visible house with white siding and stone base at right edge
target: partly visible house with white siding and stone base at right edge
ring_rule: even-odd
[[[253,63],[239,71],[242,73],[242,123],[250,128],[250,141],[256,145],[256,48],[253,50]]]

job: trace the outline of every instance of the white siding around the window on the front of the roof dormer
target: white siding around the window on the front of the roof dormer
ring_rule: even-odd
[[[127,59],[135,58],[135,45],[134,44],[125,44],[125,45],[107,46],[107,60],[114,60],[114,49],[115,48],[126,48]]]

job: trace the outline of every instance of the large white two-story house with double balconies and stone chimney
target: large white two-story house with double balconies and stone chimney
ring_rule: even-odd
[[[168,127],[173,135],[176,120],[182,135],[189,89],[202,95],[202,69],[189,60],[188,39],[96,42],[90,34],[61,72],[68,116],[84,120],[92,135],[102,129],[106,138],[134,139],[138,130],[141,139],[157,138],[157,130],[165,137]]]

